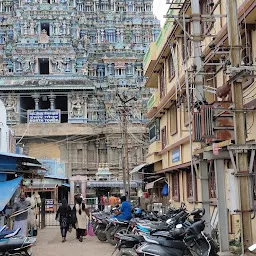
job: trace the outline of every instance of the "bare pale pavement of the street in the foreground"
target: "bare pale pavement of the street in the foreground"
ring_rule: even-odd
[[[61,242],[59,228],[39,230],[34,256],[111,256],[114,247],[98,241],[97,237],[86,236],[81,243],[75,238],[74,230],[68,233],[67,241]]]

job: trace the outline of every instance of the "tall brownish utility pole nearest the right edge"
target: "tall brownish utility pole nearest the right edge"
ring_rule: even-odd
[[[237,0],[226,0],[228,42],[230,46],[231,68],[241,65],[241,41],[239,38]],[[241,80],[232,82],[232,99],[234,105],[235,143],[237,146],[246,144],[245,114],[243,110],[243,87]],[[242,254],[248,251],[252,243],[251,226],[251,184],[248,170],[248,157],[246,150],[236,152],[237,176],[240,190],[240,230]]]

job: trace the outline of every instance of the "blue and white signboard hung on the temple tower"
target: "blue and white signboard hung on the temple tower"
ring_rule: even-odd
[[[28,123],[60,123],[60,109],[28,110]]]

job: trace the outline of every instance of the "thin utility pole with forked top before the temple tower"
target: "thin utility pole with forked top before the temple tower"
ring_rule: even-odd
[[[130,171],[129,171],[129,158],[128,158],[128,131],[127,131],[127,112],[128,108],[126,104],[134,100],[136,101],[137,98],[131,97],[128,98],[126,95],[121,96],[119,93],[117,93],[118,98],[120,99],[122,106],[121,106],[121,120],[122,120],[122,141],[123,141],[123,184],[125,192],[128,193],[128,200],[130,200],[130,192],[131,192],[131,186],[130,186]],[[126,183],[127,180],[127,183]]]

